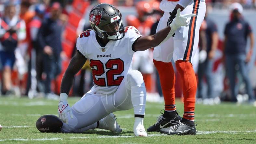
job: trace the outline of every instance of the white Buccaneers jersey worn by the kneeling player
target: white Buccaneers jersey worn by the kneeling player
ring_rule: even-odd
[[[115,92],[127,72],[132,69],[132,45],[141,35],[133,26],[125,27],[124,31],[125,35],[121,40],[109,41],[104,47],[97,42],[93,30],[84,31],[77,38],[77,50],[90,60],[97,93]]]

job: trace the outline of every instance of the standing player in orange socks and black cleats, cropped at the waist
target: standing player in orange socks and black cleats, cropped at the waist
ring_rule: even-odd
[[[182,10],[182,14],[193,13],[197,16],[191,17],[188,27],[177,29],[172,38],[154,48],[153,61],[160,76],[165,109],[164,113],[158,117],[157,122],[148,127],[147,131],[160,131],[168,135],[195,135],[197,133],[194,122],[197,79],[192,63],[196,52],[198,52],[199,28],[206,10],[205,0],[162,0],[160,9],[165,13],[158,23],[157,31],[173,21],[178,8]],[[183,117],[176,112],[175,73],[172,59],[181,76]]]

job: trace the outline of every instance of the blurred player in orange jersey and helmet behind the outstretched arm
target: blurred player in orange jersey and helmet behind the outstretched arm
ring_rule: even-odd
[[[154,8],[147,1],[139,1],[136,4],[138,16],[128,15],[126,17],[127,25],[134,26],[139,30],[142,36],[150,34],[152,25],[156,19],[152,17]],[[147,92],[152,92],[152,74],[154,72],[152,50],[140,51],[134,53],[133,69],[139,70],[142,73]]]

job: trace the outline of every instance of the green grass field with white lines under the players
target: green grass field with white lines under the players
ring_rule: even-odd
[[[69,98],[72,105],[79,98]],[[177,109],[183,112],[183,104]],[[148,138],[133,134],[133,110],[115,112],[123,128],[116,134],[105,130],[88,130],[80,134],[41,133],[36,120],[44,114],[57,114],[58,101],[0,97],[0,143],[256,143],[256,108],[252,105],[196,105],[196,136],[167,136],[148,133]],[[146,104],[144,126],[154,124],[163,109],[162,103]],[[182,113],[180,113],[182,115]]]

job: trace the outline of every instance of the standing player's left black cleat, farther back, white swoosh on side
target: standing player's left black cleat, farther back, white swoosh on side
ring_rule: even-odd
[[[162,112],[160,112],[162,115],[160,115],[157,118],[157,122],[152,125],[149,126],[147,128],[147,132],[159,132],[161,128],[166,128],[166,127],[170,127],[173,125],[176,125],[179,123],[179,120],[182,119],[182,117],[179,116],[179,114],[174,111],[174,112],[164,112],[164,114]],[[170,114],[173,113],[173,114]]]

